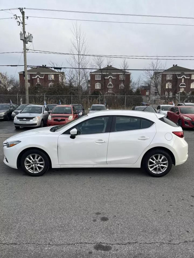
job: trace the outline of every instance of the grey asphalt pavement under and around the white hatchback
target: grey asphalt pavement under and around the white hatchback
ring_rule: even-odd
[[[30,177],[3,163],[15,132],[0,122],[1,258],[194,257],[194,131],[187,162],[162,178],[123,168]]]

